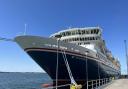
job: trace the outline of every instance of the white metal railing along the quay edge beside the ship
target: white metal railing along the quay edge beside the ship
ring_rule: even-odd
[[[103,78],[103,79],[97,79],[97,80],[90,80],[87,82],[87,89],[100,89],[100,87],[108,84],[113,79],[114,78]]]

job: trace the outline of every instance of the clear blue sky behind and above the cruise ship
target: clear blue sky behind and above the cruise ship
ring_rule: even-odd
[[[127,0],[0,0],[0,36],[24,32],[48,37],[68,27],[100,26],[103,38],[126,73],[124,39],[128,40]],[[0,41],[0,71],[43,70],[16,44]]]

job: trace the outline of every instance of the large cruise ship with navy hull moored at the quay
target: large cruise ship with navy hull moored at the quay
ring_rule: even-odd
[[[87,80],[119,77],[120,62],[107,49],[100,27],[68,28],[50,37],[23,35],[15,41],[53,80],[86,89]],[[69,89],[59,88],[59,89]]]

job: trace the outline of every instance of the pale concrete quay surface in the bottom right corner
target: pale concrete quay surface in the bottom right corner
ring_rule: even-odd
[[[113,80],[102,89],[128,89],[128,79]]]

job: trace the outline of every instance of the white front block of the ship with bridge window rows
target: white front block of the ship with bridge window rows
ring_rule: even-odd
[[[61,41],[74,43],[96,51],[95,46],[102,41],[101,30],[100,27],[69,28],[52,34],[50,37],[55,38],[56,35],[61,35]]]

